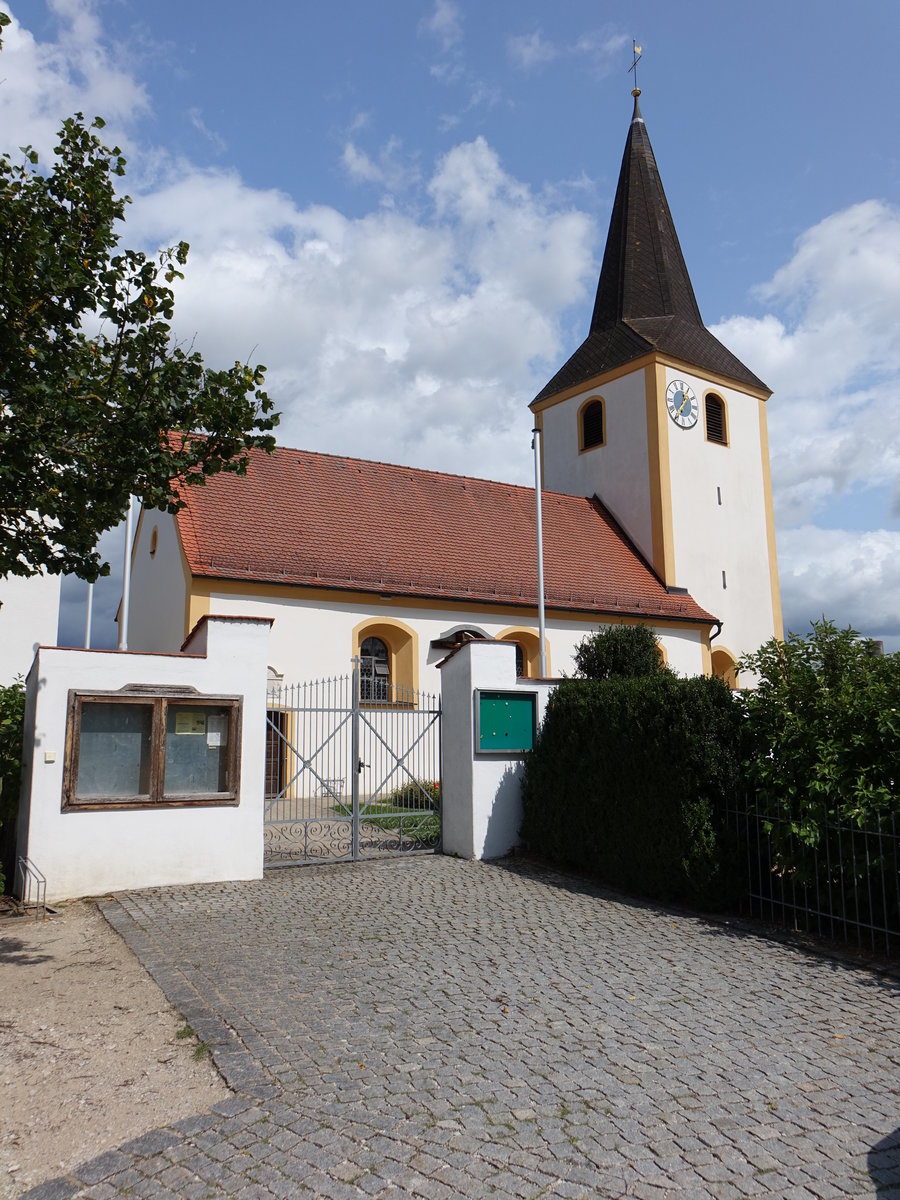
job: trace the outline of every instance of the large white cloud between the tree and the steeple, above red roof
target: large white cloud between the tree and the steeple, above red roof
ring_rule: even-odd
[[[283,444],[527,480],[527,402],[593,284],[594,229],[482,138],[445,155],[421,199],[350,220],[182,164],[136,197],[128,235],[191,242],[178,336],[212,362],[256,348]]]

